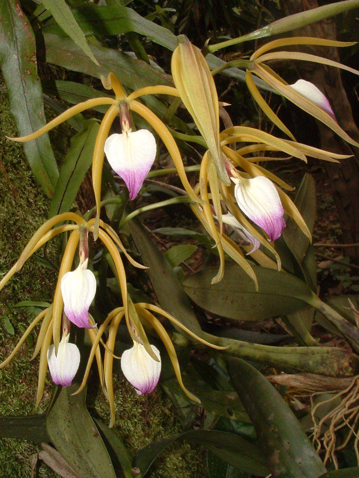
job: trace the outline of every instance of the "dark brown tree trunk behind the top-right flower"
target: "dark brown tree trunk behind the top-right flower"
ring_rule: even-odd
[[[283,0],[285,15],[298,13],[318,7],[317,0]],[[294,36],[313,36],[330,40],[337,39],[336,24],[327,19],[292,32]],[[340,62],[337,48],[305,46],[301,51],[316,54]],[[297,70],[303,79],[311,81],[329,99],[340,126],[351,138],[359,142],[359,130],[354,122],[347,94],[343,87],[340,70],[316,63],[296,62]],[[347,144],[332,130],[317,122],[321,147],[341,154],[352,154],[348,159],[337,163],[325,162],[325,170],[330,179],[331,191],[337,207],[345,243],[359,243],[359,149]],[[352,261],[359,263],[359,247],[348,248],[346,252]]]

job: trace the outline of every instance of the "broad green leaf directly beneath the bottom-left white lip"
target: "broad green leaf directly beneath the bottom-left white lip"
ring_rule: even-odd
[[[46,429],[56,449],[83,478],[116,478],[106,446],[85,406],[86,389],[72,395],[79,384],[56,394]]]

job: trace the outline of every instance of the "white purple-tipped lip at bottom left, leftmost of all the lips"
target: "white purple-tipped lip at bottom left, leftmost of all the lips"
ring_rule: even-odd
[[[80,364],[80,352],[75,344],[68,343],[69,336],[60,340],[57,355],[55,346],[47,349],[47,363],[52,381],[56,385],[69,387],[74,379]]]

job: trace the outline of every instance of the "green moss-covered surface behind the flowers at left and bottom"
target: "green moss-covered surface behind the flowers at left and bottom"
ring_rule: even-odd
[[[56,153],[66,147],[64,131],[52,135]],[[49,200],[36,183],[24,157],[22,146],[5,139],[16,135],[5,92],[0,92],[0,277],[18,258],[27,240],[44,222]],[[64,144],[65,142],[65,144]],[[57,262],[56,248],[49,251],[50,261]],[[27,326],[34,315],[24,308],[13,308],[22,300],[49,301],[56,284],[56,272],[44,268],[34,258],[25,264],[11,282],[0,292],[0,359],[4,359],[21,337],[21,328]],[[14,333],[9,333],[11,327]],[[36,329],[37,330],[37,329]],[[36,331],[34,333],[36,338]],[[51,380],[47,377],[44,399],[35,411],[38,360],[29,361],[32,350],[25,344],[14,360],[0,370],[0,416],[26,415],[45,412],[51,393]],[[115,378],[116,426],[131,456],[136,451],[161,437],[177,435],[182,430],[175,409],[167,396],[157,390],[137,397],[118,375]],[[90,411],[108,423],[109,411],[101,393],[90,397]],[[15,439],[0,439],[0,478],[29,478],[30,457],[38,445]],[[206,477],[205,455],[190,445],[173,445],[155,462],[149,478]],[[39,477],[57,477],[45,465]]]

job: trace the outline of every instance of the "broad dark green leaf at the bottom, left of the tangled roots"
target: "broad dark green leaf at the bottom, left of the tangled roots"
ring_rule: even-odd
[[[325,467],[294,413],[254,367],[227,359],[232,383],[257,432],[273,478],[318,478]]]

